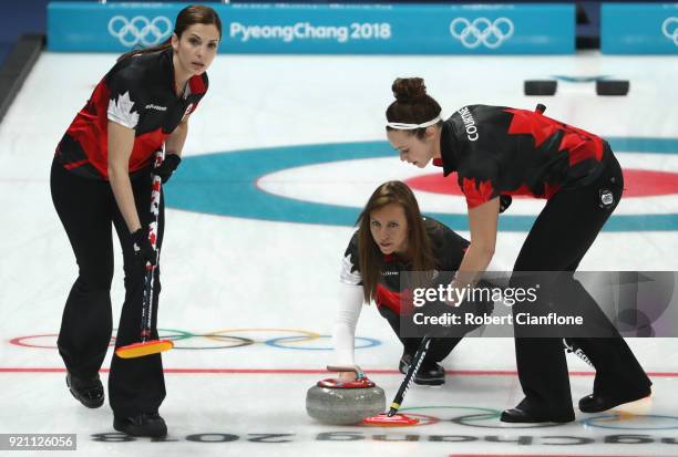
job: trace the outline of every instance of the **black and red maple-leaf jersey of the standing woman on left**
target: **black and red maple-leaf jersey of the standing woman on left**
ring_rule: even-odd
[[[146,165],[207,92],[207,74],[192,76],[184,94],[174,82],[173,50],[137,54],[101,80],[56,146],[56,159],[80,176],[109,178],[109,121],[133,128],[130,174]]]

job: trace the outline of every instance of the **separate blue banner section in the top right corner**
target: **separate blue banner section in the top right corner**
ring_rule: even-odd
[[[678,54],[678,3],[604,3],[600,51]]]

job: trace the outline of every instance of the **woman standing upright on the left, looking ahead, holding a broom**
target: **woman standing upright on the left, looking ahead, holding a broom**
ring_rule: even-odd
[[[54,208],[69,237],[79,276],[63,311],[59,352],[66,384],[86,407],[104,402],[99,370],[112,332],[113,240],[120,239],[125,271],[125,302],[116,346],[138,340],[146,262],[155,264],[148,240],[153,157],[165,159],[153,172],[165,183],[181,162],[188,117],[207,92],[205,71],[222,37],[208,7],[184,8],[167,43],[122,55],[94,89],[56,147],[50,187]],[[164,229],[160,202],[156,246]],[[155,269],[152,337],[157,337],[160,269]],[[163,436],[158,415],[165,397],[160,354],[141,359],[113,355],[109,375],[113,426],[138,436]]]

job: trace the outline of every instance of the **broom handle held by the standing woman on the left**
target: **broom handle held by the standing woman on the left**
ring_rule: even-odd
[[[163,163],[165,156],[165,146],[155,152],[154,168],[158,167]],[[157,251],[157,224],[160,219],[160,201],[161,201],[161,189],[162,180],[161,177],[153,174],[153,181],[151,184],[151,215],[152,220],[148,225],[148,241],[153,249]],[[151,262],[146,262],[146,277],[144,280],[144,297],[142,302],[142,330],[141,341],[145,343],[151,340],[151,323],[153,322],[153,285],[155,282],[155,268],[160,262],[160,256],[156,258],[156,264],[152,266]]]

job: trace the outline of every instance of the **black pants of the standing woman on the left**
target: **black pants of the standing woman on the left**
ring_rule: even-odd
[[[63,224],[75,261],[78,279],[71,288],[59,332],[59,353],[69,372],[76,376],[96,375],[106,355],[112,333],[111,281],[115,227],[123,248],[125,301],[115,347],[140,341],[144,269],[134,259],[130,230],[117,208],[107,181],[88,179],[66,172],[55,160],[50,177],[52,201]],[[151,174],[140,173],[132,188],[142,227],[151,221]],[[161,198],[157,247],[163,242],[164,200]],[[160,268],[155,269],[153,337],[157,337]],[[109,397],[117,416],[157,411],[165,398],[161,355],[120,359],[113,355],[109,375]]]

